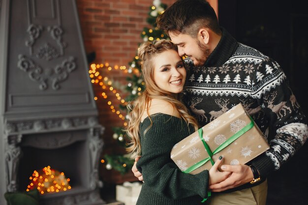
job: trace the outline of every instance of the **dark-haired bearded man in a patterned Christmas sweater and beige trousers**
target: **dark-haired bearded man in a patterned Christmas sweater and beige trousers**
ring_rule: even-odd
[[[158,16],[157,26],[186,56],[185,104],[204,126],[242,103],[271,148],[248,165],[224,165],[232,174],[211,185],[211,205],[265,205],[266,177],[305,143],[306,117],[278,63],[237,42],[220,28],[205,0],[178,0]],[[137,160],[137,159],[136,159]],[[142,179],[134,166],[135,176]]]

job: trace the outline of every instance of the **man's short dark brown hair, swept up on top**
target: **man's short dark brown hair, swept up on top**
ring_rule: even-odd
[[[157,17],[156,23],[167,34],[172,31],[196,37],[204,27],[221,33],[216,13],[206,0],[178,0]]]

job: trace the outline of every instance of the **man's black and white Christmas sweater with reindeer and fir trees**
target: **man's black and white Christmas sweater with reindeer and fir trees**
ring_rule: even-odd
[[[263,177],[280,168],[308,137],[306,117],[279,64],[238,43],[225,29],[203,66],[185,59],[184,103],[204,126],[242,103],[268,140],[270,149],[253,159]]]

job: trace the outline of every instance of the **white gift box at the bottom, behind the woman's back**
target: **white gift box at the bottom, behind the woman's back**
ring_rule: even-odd
[[[136,205],[142,183],[125,181],[122,185],[116,185],[116,200],[125,205]]]

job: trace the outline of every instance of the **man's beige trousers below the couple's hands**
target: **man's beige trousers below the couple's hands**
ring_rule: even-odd
[[[208,205],[266,205],[266,197],[267,180],[251,188],[211,196]]]

